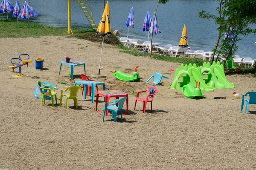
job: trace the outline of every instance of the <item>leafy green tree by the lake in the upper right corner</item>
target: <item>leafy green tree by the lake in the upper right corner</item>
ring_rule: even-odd
[[[218,39],[213,49],[213,56],[217,56],[216,61],[221,55],[225,58],[225,63],[228,59],[232,58],[237,52],[241,38],[239,35],[249,35],[255,33],[256,29],[252,29],[252,24],[256,23],[256,1],[251,0],[213,0],[218,3],[216,10],[218,16],[206,13],[206,11],[199,12],[199,17],[208,20],[214,19],[218,27]],[[226,35],[226,36],[224,36]],[[233,35],[233,38],[230,38]],[[222,38],[221,40],[221,37]],[[214,61],[212,58],[211,64]]]

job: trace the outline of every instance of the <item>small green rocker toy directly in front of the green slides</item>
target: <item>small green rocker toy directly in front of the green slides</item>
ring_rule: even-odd
[[[193,84],[187,84],[182,87],[182,92],[187,98],[204,98],[204,95],[202,95],[200,88],[195,88]]]

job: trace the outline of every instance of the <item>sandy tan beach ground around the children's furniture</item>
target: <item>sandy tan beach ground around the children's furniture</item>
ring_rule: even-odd
[[[101,75],[98,74],[101,44],[87,40],[60,37],[2,38],[0,98],[0,169],[8,170],[255,170],[256,169],[256,105],[249,105],[247,115],[240,112],[240,97],[256,90],[251,75],[227,75],[234,89],[204,92],[206,98],[185,98],[182,91],[170,89],[180,63],[135,57],[104,44]],[[32,63],[22,66],[23,77],[12,77],[10,59],[29,54]],[[59,107],[60,90],[81,80],[83,66],[76,66],[74,79],[70,67],[60,63],[66,57],[82,61],[86,75],[105,82],[106,88],[129,95],[129,113],[114,123],[111,114],[102,122],[105,102],[99,98],[98,111],[91,97],[78,93],[78,109],[65,100]],[[35,59],[44,58],[43,69],[35,69]],[[139,65],[139,82],[117,80],[111,71],[132,74]],[[156,85],[158,94],[153,112],[148,103],[137,102],[134,93],[151,84],[145,81],[159,72],[169,79]],[[35,98],[37,81],[56,84],[58,104],[51,101],[41,106]],[[67,82],[61,84],[60,82]],[[99,86],[102,90],[102,86]],[[214,97],[226,99],[213,99]],[[95,97],[96,99],[96,97]],[[111,98],[111,102],[114,98]],[[245,106],[244,106],[245,107]],[[126,104],[124,105],[126,108]],[[124,109],[125,111],[125,109]]]

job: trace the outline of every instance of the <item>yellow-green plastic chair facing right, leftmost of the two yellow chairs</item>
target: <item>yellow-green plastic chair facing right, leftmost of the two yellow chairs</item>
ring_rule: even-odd
[[[52,106],[54,106],[54,96],[55,96],[55,101],[57,104],[57,93],[54,91],[54,86],[43,84],[41,81],[38,81],[37,84],[41,92],[41,106],[43,106],[43,100],[45,104],[46,96],[51,96]]]

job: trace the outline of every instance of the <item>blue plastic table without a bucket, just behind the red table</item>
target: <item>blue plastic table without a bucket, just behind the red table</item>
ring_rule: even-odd
[[[76,84],[84,84],[84,99],[86,99],[86,94],[87,94],[87,90],[88,90],[88,85],[90,85],[92,87],[92,103],[94,102],[94,95],[95,95],[95,89],[96,89],[96,85],[103,85],[103,90],[105,90],[105,83],[104,82],[99,82],[99,81],[75,81],[74,86],[76,86]]]

